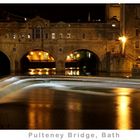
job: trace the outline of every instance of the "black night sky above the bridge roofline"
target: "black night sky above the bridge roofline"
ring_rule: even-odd
[[[0,18],[7,13],[15,18],[33,18],[36,15],[53,22],[87,21],[90,12],[91,20],[105,19],[105,4],[0,4]]]

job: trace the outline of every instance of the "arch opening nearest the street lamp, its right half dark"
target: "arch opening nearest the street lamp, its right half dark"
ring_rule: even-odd
[[[66,57],[66,75],[96,75],[99,71],[98,56],[86,49],[71,52]]]

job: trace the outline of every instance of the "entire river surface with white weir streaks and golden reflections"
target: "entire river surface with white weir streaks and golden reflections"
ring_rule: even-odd
[[[14,77],[0,87],[1,129],[140,129],[138,79]]]

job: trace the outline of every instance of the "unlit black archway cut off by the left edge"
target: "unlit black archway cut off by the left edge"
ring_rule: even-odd
[[[0,51],[0,76],[10,74],[10,60]]]

